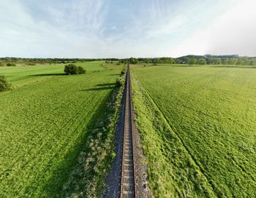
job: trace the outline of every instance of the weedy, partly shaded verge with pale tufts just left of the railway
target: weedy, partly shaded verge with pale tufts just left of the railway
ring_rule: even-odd
[[[82,151],[65,183],[61,197],[100,197],[113,161],[114,136],[124,85],[116,87],[91,119]]]

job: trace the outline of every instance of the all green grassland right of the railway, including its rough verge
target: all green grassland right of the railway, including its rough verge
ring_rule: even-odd
[[[256,69],[134,66],[154,197],[256,197]]]

